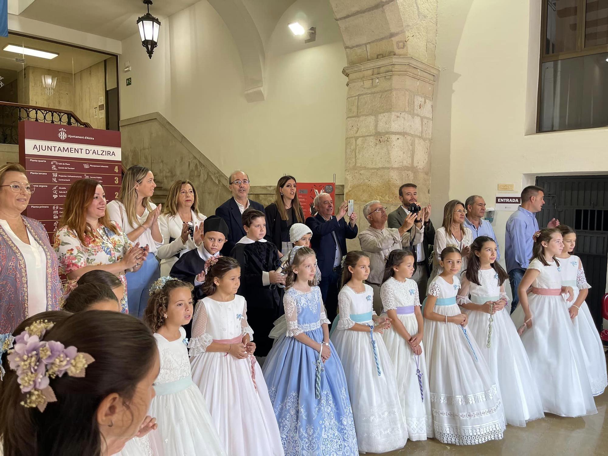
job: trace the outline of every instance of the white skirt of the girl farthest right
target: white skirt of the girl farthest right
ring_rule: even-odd
[[[568,307],[576,301],[579,289],[573,287],[574,299],[572,302],[567,302]],[[589,311],[589,306],[583,301],[578,315],[574,320],[574,330],[576,335],[581,339],[582,344],[582,359],[587,368],[587,376],[589,376],[589,384],[593,396],[599,396],[604,392],[608,385],[606,375],[606,354],[604,353],[604,345],[599,338],[598,330],[593,321],[593,317]]]

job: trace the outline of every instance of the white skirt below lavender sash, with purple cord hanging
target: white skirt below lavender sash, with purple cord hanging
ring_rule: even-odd
[[[397,315],[409,334],[418,333],[415,314]],[[407,434],[410,440],[426,440],[433,437],[433,415],[430,409],[429,376],[426,371],[424,344],[420,356],[416,356],[403,337],[393,326],[384,331],[384,344],[395,367],[399,402],[405,416]],[[418,362],[418,364],[416,364]],[[416,375],[416,368],[422,373],[422,395]]]

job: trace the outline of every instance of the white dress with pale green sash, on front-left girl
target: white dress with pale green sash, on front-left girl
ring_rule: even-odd
[[[161,355],[161,371],[154,382],[156,396],[148,413],[158,424],[148,434],[154,455],[224,456],[205,399],[192,381],[184,328],[179,333],[181,337],[172,341],[154,334]]]

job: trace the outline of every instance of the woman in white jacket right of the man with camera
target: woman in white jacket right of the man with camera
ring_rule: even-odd
[[[460,250],[462,255],[461,274],[466,271],[466,263],[471,252],[470,246],[473,243],[473,232],[465,226],[465,214],[465,205],[457,199],[448,201],[443,207],[443,225],[435,231],[435,253],[431,280],[443,272],[443,268],[439,264],[439,254],[446,247],[456,247]]]

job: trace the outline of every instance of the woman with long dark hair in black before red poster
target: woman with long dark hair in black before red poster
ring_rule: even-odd
[[[274,202],[266,209],[266,239],[277,246],[280,256],[291,250],[289,228],[294,223],[304,223],[304,212],[300,206],[295,178],[283,176],[278,179]]]

